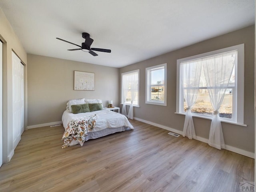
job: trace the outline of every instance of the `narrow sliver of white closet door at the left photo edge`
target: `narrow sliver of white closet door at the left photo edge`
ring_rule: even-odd
[[[2,123],[2,77],[3,77],[3,44],[0,41],[0,166],[3,163],[3,123]]]

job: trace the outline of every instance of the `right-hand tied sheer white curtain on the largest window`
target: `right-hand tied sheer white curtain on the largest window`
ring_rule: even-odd
[[[225,148],[219,109],[234,68],[237,51],[203,58],[204,75],[210,101],[214,109],[208,144],[212,147]]]

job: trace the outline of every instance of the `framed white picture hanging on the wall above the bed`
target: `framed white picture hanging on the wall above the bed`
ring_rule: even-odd
[[[74,71],[74,90],[94,91],[94,78],[94,73]]]

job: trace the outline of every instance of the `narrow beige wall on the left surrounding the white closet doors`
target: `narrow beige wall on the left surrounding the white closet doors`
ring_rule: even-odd
[[[0,9],[0,40],[3,44],[3,162],[14,154],[12,145],[12,50],[24,66],[24,126],[27,125],[27,54]]]

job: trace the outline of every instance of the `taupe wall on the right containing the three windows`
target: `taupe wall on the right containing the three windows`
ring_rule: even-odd
[[[120,68],[120,79],[121,73],[140,69],[140,108],[134,108],[134,117],[182,131],[185,116],[175,114],[177,59],[243,43],[245,44],[244,124],[247,124],[247,127],[222,122],[222,129],[225,144],[254,153],[254,26]],[[167,63],[167,106],[145,104],[145,68],[163,63]],[[196,117],[193,120],[196,135],[208,139],[211,121]]]

